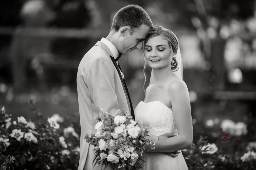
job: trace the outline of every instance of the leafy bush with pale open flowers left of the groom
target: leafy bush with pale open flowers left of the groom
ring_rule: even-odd
[[[34,113],[35,122],[22,116],[12,122],[1,108],[0,170],[77,169],[80,138],[75,129],[60,126],[56,115],[45,119]]]

